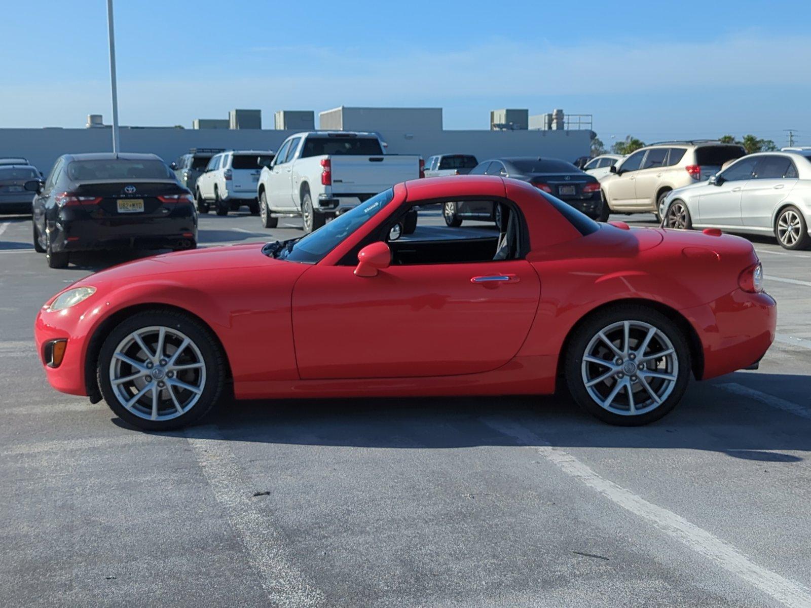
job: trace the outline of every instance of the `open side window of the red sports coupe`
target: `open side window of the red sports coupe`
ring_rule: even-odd
[[[437,225],[436,216],[448,214],[464,219],[465,228]],[[381,227],[396,265],[498,262],[522,255],[525,232],[512,203],[493,199],[423,203],[411,207],[399,222]],[[414,228],[403,228],[408,225]]]

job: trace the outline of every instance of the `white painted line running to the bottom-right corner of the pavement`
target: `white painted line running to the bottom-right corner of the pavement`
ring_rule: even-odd
[[[541,439],[525,426],[504,417],[487,417],[482,418],[482,421],[492,429],[518,439],[570,477],[574,477],[626,511],[648,520],[661,532],[681,542],[697,554],[710,559],[763,593],[774,597],[783,606],[789,608],[811,606],[811,590],[805,585],[754,563],[747,555],[713,533],[707,532],[685,520],[684,517],[650,503],[641,496],[633,494],[631,490],[600,476],[568,452],[551,447],[549,442]]]

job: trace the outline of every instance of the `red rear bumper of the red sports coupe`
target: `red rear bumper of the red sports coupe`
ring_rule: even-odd
[[[701,379],[752,366],[775,340],[777,303],[768,293],[736,289],[714,302],[681,312],[702,343]]]

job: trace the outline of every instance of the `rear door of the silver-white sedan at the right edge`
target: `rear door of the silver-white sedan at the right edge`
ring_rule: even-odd
[[[797,169],[788,156],[761,156],[752,179],[740,191],[740,222],[753,228],[772,228],[775,209],[797,184]]]

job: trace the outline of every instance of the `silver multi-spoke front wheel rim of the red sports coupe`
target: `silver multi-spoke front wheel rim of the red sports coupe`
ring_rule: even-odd
[[[146,420],[171,420],[203,394],[206,366],[186,334],[163,326],[140,328],[115,347],[109,383],[127,411]]]

